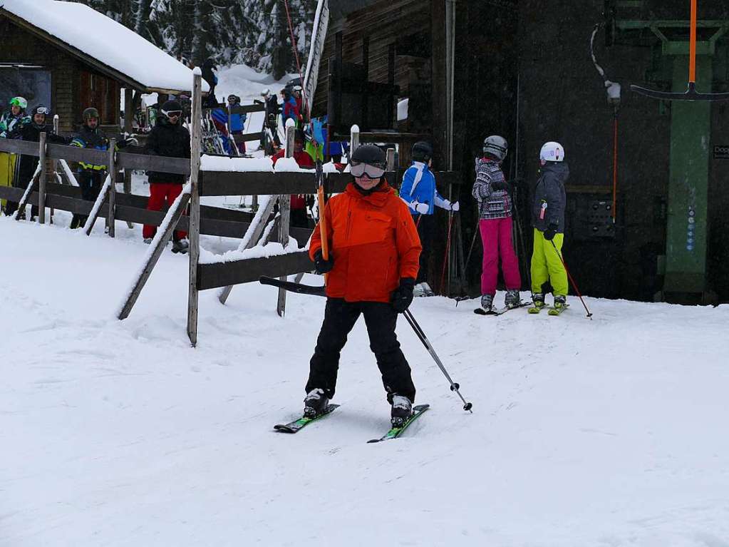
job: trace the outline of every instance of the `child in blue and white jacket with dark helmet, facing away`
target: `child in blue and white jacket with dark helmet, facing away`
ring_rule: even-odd
[[[423,245],[420,254],[420,270],[413,293],[416,296],[434,295],[432,288],[426,282],[426,277],[435,228],[435,217],[433,216],[435,208],[440,207],[440,209],[453,212],[460,209],[458,201],[451,203],[438,193],[435,187],[435,176],[430,170],[432,156],[433,149],[427,142],[418,141],[413,144],[411,153],[413,164],[402,176],[400,186],[400,198],[410,207],[410,214],[413,215],[413,221],[418,227],[418,235]]]

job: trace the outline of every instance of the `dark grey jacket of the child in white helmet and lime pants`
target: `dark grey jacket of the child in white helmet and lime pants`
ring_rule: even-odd
[[[558,228],[557,233],[564,233],[567,202],[564,185],[568,178],[569,166],[564,161],[550,161],[542,167],[542,176],[534,188],[534,205],[531,207],[531,225],[537,230],[543,232],[550,224],[554,224]]]

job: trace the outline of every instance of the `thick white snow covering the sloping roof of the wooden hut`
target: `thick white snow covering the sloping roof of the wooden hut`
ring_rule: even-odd
[[[96,61],[96,65],[106,67],[109,75],[134,88],[162,93],[192,88],[191,69],[121,23],[84,4],[2,0],[2,12],[71,54],[85,61]],[[208,91],[204,80],[203,91]]]

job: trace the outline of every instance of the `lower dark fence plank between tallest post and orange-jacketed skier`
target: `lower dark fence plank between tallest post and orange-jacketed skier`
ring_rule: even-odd
[[[281,277],[313,271],[308,251],[268,258],[248,258],[234,262],[198,264],[198,290],[216,289],[257,281],[260,276]]]

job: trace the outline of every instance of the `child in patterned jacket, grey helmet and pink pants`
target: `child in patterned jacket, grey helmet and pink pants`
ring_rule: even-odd
[[[483,141],[483,158],[476,160],[472,195],[478,202],[478,227],[483,242],[481,307],[485,311],[491,311],[494,307],[499,257],[507,289],[504,304],[516,306],[520,298],[521,275],[512,243],[510,185],[501,168],[508,150],[506,139],[491,135]]]

